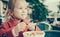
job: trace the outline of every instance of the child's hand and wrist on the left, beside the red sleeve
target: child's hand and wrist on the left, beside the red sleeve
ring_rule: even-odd
[[[26,24],[24,22],[21,22],[13,28],[12,32],[13,32],[14,35],[18,35],[19,32],[24,31],[25,28],[26,28]]]

